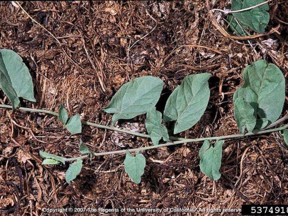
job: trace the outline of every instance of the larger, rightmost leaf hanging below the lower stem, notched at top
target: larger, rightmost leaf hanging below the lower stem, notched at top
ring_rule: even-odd
[[[219,170],[223,143],[224,140],[218,140],[213,147],[208,140],[205,140],[199,152],[200,170],[213,181],[217,181],[221,177]]]

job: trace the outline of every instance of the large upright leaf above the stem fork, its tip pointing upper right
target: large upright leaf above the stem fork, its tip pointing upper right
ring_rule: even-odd
[[[210,77],[210,74],[190,75],[168,98],[164,122],[176,121],[174,134],[191,128],[204,114],[210,97],[207,82]]]

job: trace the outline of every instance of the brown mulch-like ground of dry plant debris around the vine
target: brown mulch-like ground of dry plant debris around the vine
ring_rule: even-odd
[[[208,2],[210,8],[219,9],[231,3]],[[243,84],[243,68],[266,59],[288,76],[287,1],[270,4],[267,31],[280,25],[277,32],[249,41],[225,37],[211,22],[204,0],[20,4],[51,33],[19,6],[0,3],[0,48],[21,55],[34,83],[37,103],[22,101],[24,107],[57,112],[62,102],[69,115],[110,125],[112,116],[101,107],[133,78],[152,75],[165,82],[157,104],[163,111],[167,97],[184,77],[207,72],[212,74],[207,110],[200,122],[180,135],[229,135],[239,133],[232,96]],[[222,14],[214,15],[225,27]],[[3,93],[0,102],[9,103]],[[287,102],[286,97],[282,116],[287,114]],[[120,121],[118,127],[145,133],[144,120],[140,116]],[[64,179],[68,164],[42,166],[39,151],[76,157],[80,138],[95,152],[152,145],[145,138],[88,126],[83,126],[81,135],[69,136],[53,116],[0,109],[1,214],[44,215],[43,208],[70,207],[238,209],[247,203],[288,204],[288,148],[279,133],[226,141],[217,182],[200,172],[202,143],[185,143],[143,153],[147,167],[139,185],[124,172],[124,155],[85,160],[81,174],[68,185]]]

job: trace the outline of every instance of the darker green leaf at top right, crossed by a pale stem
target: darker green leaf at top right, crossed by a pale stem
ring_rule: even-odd
[[[231,10],[237,11],[250,8],[263,2],[265,0],[233,0]],[[248,11],[232,13],[232,15],[238,20],[241,26],[249,26],[258,33],[264,33],[270,19],[268,10],[269,6],[265,4]]]

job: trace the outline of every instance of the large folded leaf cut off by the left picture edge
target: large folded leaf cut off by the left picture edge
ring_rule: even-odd
[[[32,78],[22,58],[12,50],[0,51],[0,86],[15,109],[22,97],[35,102]]]

